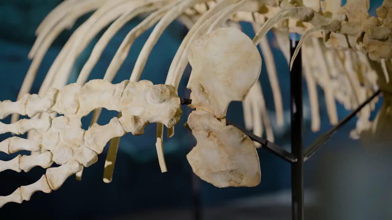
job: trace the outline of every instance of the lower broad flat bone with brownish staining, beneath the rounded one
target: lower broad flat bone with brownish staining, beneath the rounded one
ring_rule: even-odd
[[[196,175],[220,188],[260,183],[259,157],[247,135],[203,110],[189,114],[188,125],[197,140],[187,155]]]

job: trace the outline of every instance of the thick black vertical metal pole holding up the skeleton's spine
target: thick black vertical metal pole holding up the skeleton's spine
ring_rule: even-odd
[[[298,41],[295,38],[290,41],[292,56]],[[302,59],[299,51],[290,71],[291,153],[297,157],[297,161],[291,164],[292,220],[304,219],[302,108]]]

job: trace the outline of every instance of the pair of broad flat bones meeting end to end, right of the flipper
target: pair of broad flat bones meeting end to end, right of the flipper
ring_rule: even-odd
[[[256,148],[238,128],[226,126],[224,118],[229,103],[243,101],[258,80],[257,47],[239,29],[220,28],[192,43],[189,63],[189,106],[196,110],[189,114],[188,125],[197,140],[187,155],[192,170],[217,187],[257,186],[261,174]]]

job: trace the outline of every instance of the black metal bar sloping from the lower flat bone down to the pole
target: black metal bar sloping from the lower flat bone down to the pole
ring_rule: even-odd
[[[238,128],[238,129],[240,129],[243,133],[248,135],[249,138],[252,141],[259,142],[261,145],[263,145],[265,148],[267,148],[267,150],[269,150],[271,153],[273,153],[273,154],[277,155],[278,157],[286,160],[287,162],[292,163],[292,162],[296,162],[297,161],[297,158],[292,153],[290,153],[289,151],[286,151],[282,147],[274,144],[273,142],[264,140],[263,138],[256,136],[254,133],[249,132],[245,128],[242,128],[241,126],[238,126],[238,125],[232,123],[231,121],[229,121],[227,119],[226,119],[226,124],[227,125],[232,125],[232,126]]]

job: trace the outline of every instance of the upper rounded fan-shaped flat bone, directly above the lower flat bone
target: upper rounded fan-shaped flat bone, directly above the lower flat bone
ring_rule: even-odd
[[[245,98],[261,71],[257,47],[234,27],[217,29],[194,41],[189,63],[193,69],[189,106],[212,112],[217,118],[225,117],[231,101]]]

